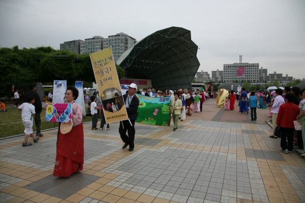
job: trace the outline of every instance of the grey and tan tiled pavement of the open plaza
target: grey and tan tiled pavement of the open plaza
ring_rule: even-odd
[[[305,161],[270,139],[267,109],[249,114],[216,99],[172,127],[136,123],[135,150],[121,149],[118,124],[84,124],[84,170],[52,176],[56,130],[31,147],[0,140],[0,202],[305,202]]]

